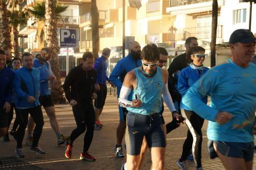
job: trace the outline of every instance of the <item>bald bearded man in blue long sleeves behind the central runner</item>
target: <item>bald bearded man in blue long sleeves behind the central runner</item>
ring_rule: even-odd
[[[119,98],[120,89],[124,81],[125,75],[136,67],[141,66],[141,46],[138,42],[133,41],[129,43],[128,56],[120,59],[109,76],[109,81],[117,86],[117,97]],[[126,108],[119,107],[120,122],[117,127],[117,145],[115,146],[115,156],[124,157],[122,152],[122,141],[126,128]]]

